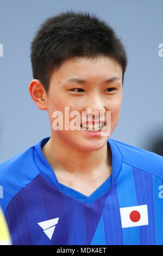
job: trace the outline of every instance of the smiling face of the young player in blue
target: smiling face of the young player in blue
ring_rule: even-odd
[[[85,82],[67,82],[72,77],[85,80]],[[106,82],[112,77],[116,79]],[[64,115],[65,107],[69,107],[69,112],[78,111],[82,120],[82,112],[89,109],[99,114],[100,111],[103,113],[111,111],[112,133],[120,118],[121,103],[122,68],[114,60],[103,56],[96,59],[82,57],[66,60],[52,74],[46,99],[51,123],[51,137],[55,139],[57,136],[62,145],[68,143],[78,150],[99,150],[106,143],[107,136],[91,136],[82,129],[53,130],[52,114],[54,111],[60,111]]]

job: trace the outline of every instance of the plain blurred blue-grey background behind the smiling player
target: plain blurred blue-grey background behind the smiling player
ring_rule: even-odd
[[[0,0],[0,162],[50,136],[47,111],[28,92],[30,42],[47,17],[70,8],[98,14],[126,46],[122,112],[111,138],[150,150],[162,136],[162,0]]]

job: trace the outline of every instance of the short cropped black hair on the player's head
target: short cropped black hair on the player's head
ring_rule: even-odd
[[[127,53],[114,29],[88,11],[64,11],[48,17],[36,31],[31,43],[33,78],[46,92],[54,70],[73,57],[108,56],[122,68],[122,83]]]

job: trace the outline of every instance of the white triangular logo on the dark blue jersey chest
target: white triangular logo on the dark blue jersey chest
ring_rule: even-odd
[[[58,220],[59,218],[52,218],[51,220],[37,223],[43,229],[43,232],[48,236],[50,240],[52,239],[54,229],[58,223]]]

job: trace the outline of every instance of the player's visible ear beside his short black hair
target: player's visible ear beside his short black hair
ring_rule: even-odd
[[[32,100],[35,102],[36,106],[41,110],[47,110],[46,105],[46,92],[45,88],[43,87],[42,83],[34,79],[29,84],[29,93],[32,97]]]

